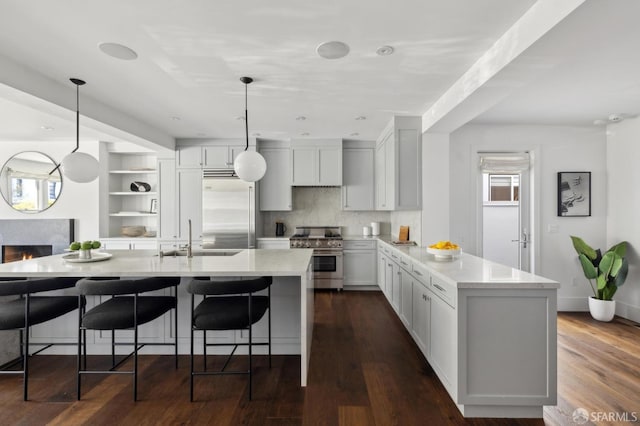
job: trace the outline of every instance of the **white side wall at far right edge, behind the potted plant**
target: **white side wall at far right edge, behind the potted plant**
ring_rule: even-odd
[[[640,119],[609,126],[607,247],[628,241],[629,275],[614,296],[616,313],[640,322]]]

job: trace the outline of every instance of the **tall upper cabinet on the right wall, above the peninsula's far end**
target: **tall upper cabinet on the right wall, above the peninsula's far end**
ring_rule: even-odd
[[[376,210],[422,208],[422,118],[394,117],[376,141]]]

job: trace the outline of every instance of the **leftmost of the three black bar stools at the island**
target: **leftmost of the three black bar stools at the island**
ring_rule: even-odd
[[[18,296],[0,303],[0,330],[20,330],[20,355],[0,366],[0,374],[22,374],[24,389],[23,399],[28,399],[29,357],[36,355],[53,345],[69,345],[70,343],[36,343],[29,342],[29,328],[69,313],[79,306],[84,307],[84,297],[77,296],[33,296],[51,290],[60,290],[75,286],[78,278],[42,278],[0,280],[0,296]],[[71,343],[74,344],[74,343]],[[44,347],[29,354],[30,346]],[[10,368],[22,363],[22,370]]]

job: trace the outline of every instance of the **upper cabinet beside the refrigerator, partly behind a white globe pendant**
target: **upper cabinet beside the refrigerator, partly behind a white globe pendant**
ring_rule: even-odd
[[[259,147],[267,162],[267,171],[258,182],[260,210],[291,211],[293,203],[289,146],[277,141],[269,142],[260,141]]]

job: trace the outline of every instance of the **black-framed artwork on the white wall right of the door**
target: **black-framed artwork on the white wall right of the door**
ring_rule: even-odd
[[[558,172],[558,216],[591,216],[591,172]]]

